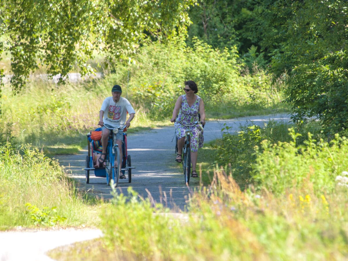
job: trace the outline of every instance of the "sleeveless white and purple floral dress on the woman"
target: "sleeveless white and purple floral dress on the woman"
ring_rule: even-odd
[[[178,116],[176,117],[177,120],[181,121],[183,124],[186,125],[192,125],[195,121],[198,121],[198,112],[199,112],[199,101],[200,97],[197,96],[196,101],[193,103],[193,105],[190,107],[187,100],[186,95],[181,95],[182,97],[182,103],[181,108],[179,111]],[[181,139],[185,136],[185,130],[186,127],[182,126],[179,122],[174,123],[175,129],[176,129],[176,136],[177,139]],[[203,127],[198,124],[193,127],[189,127],[191,130],[191,151],[196,152],[198,151],[198,148],[203,147]]]

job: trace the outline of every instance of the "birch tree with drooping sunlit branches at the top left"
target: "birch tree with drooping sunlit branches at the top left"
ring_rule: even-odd
[[[113,63],[145,39],[185,35],[196,0],[2,0],[0,54],[11,55],[11,85],[19,93],[39,66],[50,76],[74,67],[93,72],[88,59],[103,53]],[[3,71],[0,71],[2,74]],[[62,78],[61,78],[62,81]]]

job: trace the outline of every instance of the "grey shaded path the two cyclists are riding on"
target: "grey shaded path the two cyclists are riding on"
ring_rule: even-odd
[[[221,128],[224,124],[230,127],[229,132],[239,130],[241,125],[263,126],[268,120],[288,121],[285,114],[245,117],[221,121],[207,121],[204,127],[204,141],[208,142],[221,137]],[[175,161],[174,126],[161,127],[146,132],[129,134],[128,154],[132,157],[132,182],[128,179],[120,180],[117,191],[127,194],[127,188],[131,186],[142,197],[153,198],[154,202],[162,203],[177,212],[185,209],[189,189],[184,184],[182,167]],[[85,165],[87,151],[81,151],[80,155],[61,156],[60,163],[66,167],[69,175],[77,179],[79,188],[93,191],[98,197],[111,198],[111,188],[106,185],[106,179],[95,177],[90,172],[89,184],[85,182]],[[199,154],[198,154],[199,163]],[[198,170],[198,165],[197,165]],[[127,173],[126,173],[127,174]],[[190,187],[199,185],[199,178],[190,179]],[[148,193],[149,191],[149,193]]]

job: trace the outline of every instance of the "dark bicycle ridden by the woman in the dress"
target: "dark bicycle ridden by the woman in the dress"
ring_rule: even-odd
[[[187,129],[185,130],[185,142],[184,142],[184,147],[182,148],[182,169],[184,172],[184,181],[185,184],[189,184],[190,182],[190,171],[191,171],[191,149],[190,149],[190,145],[191,145],[191,130],[189,129],[189,127],[193,127],[196,126],[198,124],[203,124],[203,122],[201,121],[195,121],[192,125],[186,125],[183,124],[181,121],[179,120],[175,120],[176,122],[178,122],[179,124],[181,124],[182,126],[186,127]],[[178,154],[178,148],[177,148],[177,136],[175,134],[176,137],[176,141],[175,141],[175,154]]]

